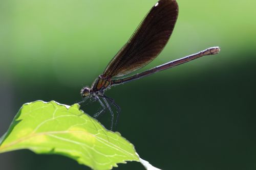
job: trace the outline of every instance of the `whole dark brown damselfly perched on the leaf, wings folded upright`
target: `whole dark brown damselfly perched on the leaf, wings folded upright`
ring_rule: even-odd
[[[104,94],[107,89],[152,75],[155,72],[172,68],[202,56],[215,55],[220,52],[220,47],[218,46],[209,47],[196,54],[129,76],[134,71],[143,68],[153,61],[161,53],[174,30],[178,11],[178,4],[175,0],[158,1],[144,17],[131,38],[106,66],[103,74],[98,76],[91,87],[87,86],[81,89],[82,102],[93,99],[100,103],[102,110],[98,112],[97,116],[105,110],[109,110],[111,114],[111,130],[114,125],[112,106],[115,106],[117,110],[117,120],[121,109],[112,98]]]

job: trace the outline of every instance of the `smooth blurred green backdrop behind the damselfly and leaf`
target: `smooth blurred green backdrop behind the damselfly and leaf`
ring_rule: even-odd
[[[155,3],[0,1],[0,134],[26,102],[80,101],[81,87],[102,74]],[[162,169],[256,169],[256,2],[178,4],[170,41],[144,69],[210,46],[222,51],[107,91],[122,108],[117,130]],[[89,169],[27,150],[1,154],[0,166]],[[114,169],[143,167],[128,162]]]

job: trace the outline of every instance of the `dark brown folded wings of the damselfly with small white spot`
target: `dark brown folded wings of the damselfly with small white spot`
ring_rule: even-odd
[[[158,1],[110,61],[103,75],[121,77],[153,61],[166,45],[177,17],[178,4],[175,0]]]

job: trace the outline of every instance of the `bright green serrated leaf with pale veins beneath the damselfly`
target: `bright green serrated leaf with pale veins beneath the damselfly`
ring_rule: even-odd
[[[0,153],[29,149],[38,154],[60,154],[92,169],[140,161],[133,144],[118,132],[106,130],[79,107],[54,101],[24,104],[0,138]]]

